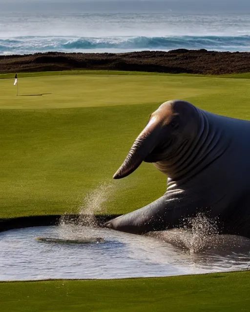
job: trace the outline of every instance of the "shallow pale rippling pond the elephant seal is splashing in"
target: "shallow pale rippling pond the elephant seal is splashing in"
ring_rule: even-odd
[[[36,237],[102,237],[104,243],[61,244]],[[250,240],[217,235],[216,244],[214,237],[207,238],[195,252],[190,248],[194,240],[192,234],[177,230],[151,236],[74,225],[10,230],[0,233],[0,280],[108,279],[250,269]]]

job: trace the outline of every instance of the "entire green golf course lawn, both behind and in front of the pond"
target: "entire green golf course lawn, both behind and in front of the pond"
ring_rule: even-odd
[[[76,72],[0,75],[0,218],[123,214],[162,195],[142,164],[112,180],[149,115],[179,98],[250,119],[249,75]],[[98,200],[95,195],[101,194]],[[249,311],[249,272],[109,281],[0,283],[1,311]]]

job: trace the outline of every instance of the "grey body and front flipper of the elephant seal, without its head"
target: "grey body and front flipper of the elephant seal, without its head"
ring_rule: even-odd
[[[191,105],[184,101],[171,105],[176,103]],[[223,233],[250,237],[250,121],[211,114],[193,105],[192,109],[195,130],[191,136],[189,131],[163,160],[146,160],[168,175],[167,192],[107,222],[107,227],[143,234],[178,227],[188,216],[209,212],[219,218]]]

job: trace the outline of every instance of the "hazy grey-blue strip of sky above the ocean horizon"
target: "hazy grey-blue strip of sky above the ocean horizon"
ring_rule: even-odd
[[[59,13],[105,11],[250,14],[250,0],[0,0],[0,5],[1,11],[7,9],[24,12],[51,10]]]

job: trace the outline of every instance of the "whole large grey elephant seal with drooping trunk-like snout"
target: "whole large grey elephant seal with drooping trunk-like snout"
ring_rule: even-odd
[[[113,178],[130,175],[143,161],[168,176],[167,192],[106,227],[145,234],[181,227],[185,218],[209,212],[221,233],[250,237],[250,121],[167,101],[151,115]]]

